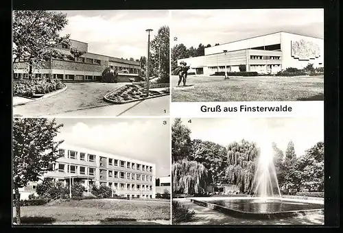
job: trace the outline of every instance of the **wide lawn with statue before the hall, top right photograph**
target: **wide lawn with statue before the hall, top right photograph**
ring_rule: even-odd
[[[178,77],[171,76],[171,86]],[[324,78],[189,76],[194,88],[172,90],[172,102],[324,100]]]

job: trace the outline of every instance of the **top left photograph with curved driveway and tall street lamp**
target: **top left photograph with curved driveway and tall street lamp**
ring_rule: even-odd
[[[12,12],[14,117],[169,116],[169,11]]]

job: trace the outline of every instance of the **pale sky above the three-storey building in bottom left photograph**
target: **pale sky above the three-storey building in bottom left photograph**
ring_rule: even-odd
[[[163,125],[163,121],[167,121]],[[67,145],[156,164],[156,177],[170,175],[169,119],[59,118],[56,140]]]

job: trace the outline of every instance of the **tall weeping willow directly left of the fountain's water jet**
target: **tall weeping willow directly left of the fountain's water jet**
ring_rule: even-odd
[[[255,176],[255,158],[258,156],[255,143],[241,140],[228,145],[226,179],[238,186],[241,193],[250,193]]]

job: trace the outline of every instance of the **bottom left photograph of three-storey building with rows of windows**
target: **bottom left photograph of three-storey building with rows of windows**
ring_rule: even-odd
[[[169,119],[14,118],[14,225],[171,224]]]

